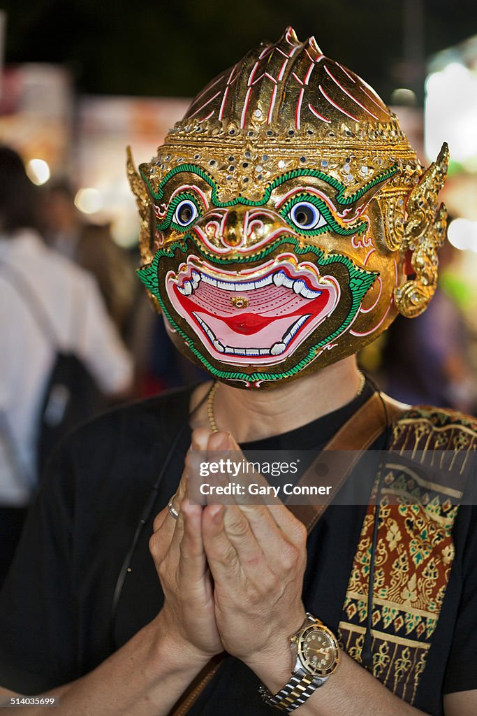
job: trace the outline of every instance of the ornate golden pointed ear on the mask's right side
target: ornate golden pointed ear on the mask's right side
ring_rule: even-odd
[[[412,251],[413,279],[395,289],[399,313],[415,318],[426,310],[434,295],[438,278],[438,249],[446,238],[447,210],[438,204],[438,193],[446,181],[449,150],[446,142],[438,158],[421,176],[408,195],[407,220],[401,250]]]

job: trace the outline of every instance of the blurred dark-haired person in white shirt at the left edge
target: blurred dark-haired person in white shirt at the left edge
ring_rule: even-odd
[[[19,155],[0,147],[0,583],[36,488],[39,412],[57,350],[76,354],[107,396],[127,395],[132,383],[96,281],[36,230],[36,191]]]

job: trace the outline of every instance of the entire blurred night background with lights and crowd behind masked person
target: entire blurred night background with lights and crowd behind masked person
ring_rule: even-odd
[[[436,296],[360,362],[393,397],[476,413],[477,4],[0,0],[0,584],[72,424],[205,379],[134,276],[125,147],[149,161],[191,97],[289,24],[377,90],[423,163],[449,144]]]

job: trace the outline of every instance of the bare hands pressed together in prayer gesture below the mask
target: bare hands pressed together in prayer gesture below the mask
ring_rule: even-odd
[[[228,433],[199,429],[191,450],[239,448]],[[289,674],[288,637],[305,616],[305,527],[282,504],[190,503],[190,458],[191,451],[174,497],[179,517],[164,508],[149,541],[164,629],[198,658],[225,650],[262,679],[267,664],[276,672],[281,659]]]

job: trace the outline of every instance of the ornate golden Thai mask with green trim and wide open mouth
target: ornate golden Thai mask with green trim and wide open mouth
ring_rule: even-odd
[[[128,173],[139,277],[187,357],[270,387],[358,351],[437,281],[444,146],[424,170],[368,84],[287,29]]]

